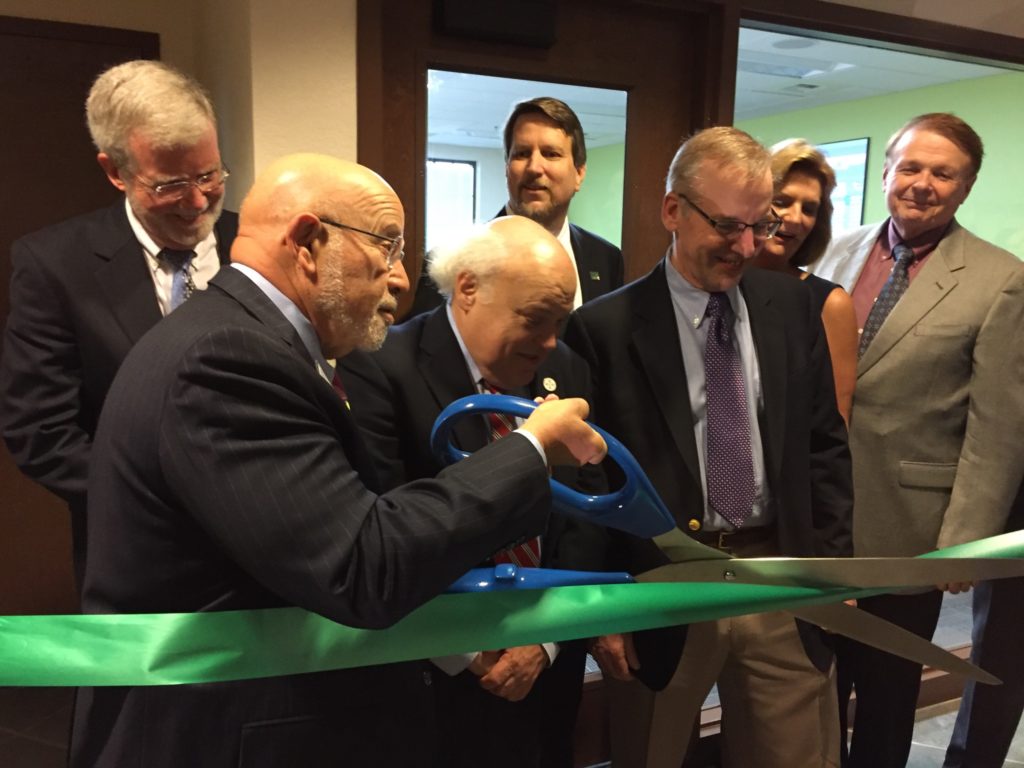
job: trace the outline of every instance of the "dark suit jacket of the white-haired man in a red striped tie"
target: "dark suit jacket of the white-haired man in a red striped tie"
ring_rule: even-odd
[[[379,352],[348,355],[340,374],[385,488],[433,477],[443,468],[430,450],[434,420],[449,403],[476,393],[443,306],[391,329]],[[559,342],[529,386],[509,394],[586,397],[589,386],[587,364]],[[484,419],[463,419],[454,441],[474,452],[487,443],[488,433]],[[594,466],[560,467],[555,476],[588,493],[604,490],[603,474]],[[552,514],[542,538],[542,565],[601,570],[606,546],[599,526]],[[516,702],[484,691],[468,671],[456,678],[436,673],[441,737],[435,764],[478,765],[493,756],[488,765],[534,765],[544,754],[545,765],[571,766],[585,656],[583,641],[563,643],[552,667]]]

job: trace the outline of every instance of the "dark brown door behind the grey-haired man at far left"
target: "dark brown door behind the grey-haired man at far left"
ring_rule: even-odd
[[[0,16],[0,93],[13,147],[0,216],[0,328],[11,243],[119,196],[85,127],[92,81],[119,61],[158,54],[152,33]],[[0,488],[0,614],[77,610],[68,508],[25,477],[2,444]]]

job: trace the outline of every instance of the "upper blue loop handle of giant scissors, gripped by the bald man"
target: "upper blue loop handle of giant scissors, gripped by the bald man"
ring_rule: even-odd
[[[430,433],[430,447],[444,464],[454,464],[469,456],[451,441],[452,429],[462,418],[476,414],[506,414],[528,418],[537,403],[507,394],[474,394],[452,402],[438,415]],[[590,424],[608,445],[608,456],[623,470],[625,484],[604,495],[582,494],[551,480],[552,506],[569,517],[578,517],[634,536],[650,539],[676,527],[675,518],[666,508],[640,464],[627,447],[600,427]]]

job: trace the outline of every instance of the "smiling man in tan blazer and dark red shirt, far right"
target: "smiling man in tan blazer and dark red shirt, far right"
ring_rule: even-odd
[[[956,219],[983,155],[955,115],[912,118],[886,146],[889,217],[813,266],[850,292],[862,329],[850,421],[859,556],[910,557],[1024,524],[1024,265]],[[930,638],[943,591],[971,586],[859,605]],[[1001,766],[1024,711],[1024,580],[979,587],[971,658],[1005,684],[968,684],[947,768]],[[839,662],[841,695],[852,685],[857,697],[847,765],[904,765],[921,665],[849,640]]]

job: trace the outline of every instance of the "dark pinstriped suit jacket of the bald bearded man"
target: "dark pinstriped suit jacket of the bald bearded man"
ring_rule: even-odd
[[[89,475],[84,607],[298,605],[385,627],[545,524],[547,470],[521,436],[443,477],[369,489],[358,429],[299,336],[222,269],[135,345],[111,387]],[[413,765],[431,737],[428,694],[415,663],[82,689],[72,765]]]

